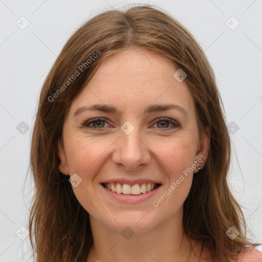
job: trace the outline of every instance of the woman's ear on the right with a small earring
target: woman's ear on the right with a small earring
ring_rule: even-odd
[[[201,169],[204,167],[204,165],[207,162],[209,146],[210,146],[210,129],[208,126],[206,126],[200,138],[197,154],[195,154],[195,159],[194,159],[195,163],[197,162],[201,163]],[[199,171],[198,168],[196,168],[195,170],[196,170],[195,173]]]

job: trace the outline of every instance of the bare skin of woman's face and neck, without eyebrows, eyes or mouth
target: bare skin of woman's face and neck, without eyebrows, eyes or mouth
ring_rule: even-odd
[[[89,212],[94,245],[88,261],[199,261],[200,243],[183,232],[183,203],[198,168],[188,173],[172,193],[154,207],[157,200],[176,182],[186,168],[201,156],[207,160],[209,132],[200,139],[193,97],[185,81],[173,77],[171,62],[145,49],[124,49],[103,60],[99,70],[71,104],[59,142],[59,170],[82,182],[73,187],[76,198]],[[177,104],[178,110],[144,114],[152,104]],[[75,111],[85,105],[110,104],[122,114]],[[88,120],[101,117],[105,121]],[[161,118],[173,121],[164,122]],[[121,126],[129,121],[134,130],[125,134]],[[100,127],[101,126],[101,127]],[[106,179],[151,179],[162,186],[154,197],[137,204],[120,203],[108,197],[100,183]],[[130,227],[134,235],[121,234]],[[176,259],[176,260],[175,260]]]

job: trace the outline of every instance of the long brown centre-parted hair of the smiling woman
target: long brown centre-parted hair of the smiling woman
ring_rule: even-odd
[[[149,5],[104,11],[87,21],[65,43],[42,86],[30,159],[35,195],[29,231],[35,261],[78,262],[88,257],[93,244],[89,214],[77,201],[68,176],[58,170],[57,145],[72,101],[105,57],[127,47],[158,53],[187,75],[200,131],[208,126],[211,138],[207,163],[193,177],[184,202],[184,230],[210,249],[213,261],[233,261],[237,251],[251,243],[227,183],[230,137],[214,73],[191,33]],[[240,232],[234,240],[226,235],[231,226]]]

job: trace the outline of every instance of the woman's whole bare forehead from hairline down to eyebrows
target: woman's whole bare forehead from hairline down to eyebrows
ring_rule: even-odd
[[[96,74],[72,103],[72,110],[94,103],[115,104],[130,111],[152,103],[175,103],[194,111],[185,81],[173,74],[171,61],[145,49],[124,49],[105,58]]]

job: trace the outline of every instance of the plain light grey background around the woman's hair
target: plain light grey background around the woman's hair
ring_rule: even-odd
[[[135,2],[0,0],[0,262],[27,261],[30,255],[28,231],[23,226],[27,226],[32,189],[30,180],[25,188],[24,183],[41,85],[64,43],[86,19],[125,3]],[[227,122],[239,127],[231,129],[230,185],[244,207],[252,231],[248,235],[262,243],[262,1],[140,3],[167,10],[205,50],[216,74]],[[239,21],[238,27],[232,16]],[[30,25],[24,29],[27,20]]]

